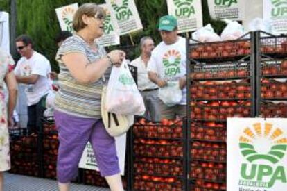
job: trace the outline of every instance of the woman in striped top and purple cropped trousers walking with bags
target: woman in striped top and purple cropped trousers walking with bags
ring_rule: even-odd
[[[85,3],[73,17],[76,34],[67,38],[56,55],[60,90],[55,96],[55,124],[59,133],[57,177],[60,190],[69,190],[87,142],[91,142],[101,172],[111,190],[123,190],[114,138],[101,120],[101,90],[112,65],[125,59],[120,50],[106,53],[94,41],[103,35],[105,12]]]

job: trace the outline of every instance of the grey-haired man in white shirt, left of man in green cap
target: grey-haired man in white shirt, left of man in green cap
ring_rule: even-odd
[[[150,81],[148,78],[148,72],[146,70],[148,60],[150,60],[150,55],[155,48],[155,44],[152,38],[145,36],[141,38],[139,45],[141,48],[141,56],[135,60],[132,60],[130,65],[137,67],[138,88],[139,92],[141,92],[141,96],[143,97],[144,105],[146,106],[146,113],[144,114],[144,117],[153,122],[159,122],[159,88],[157,85],[155,85],[155,83]]]

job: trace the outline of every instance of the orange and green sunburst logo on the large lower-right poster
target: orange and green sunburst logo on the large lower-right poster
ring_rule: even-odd
[[[287,150],[287,138],[281,128],[274,128],[272,124],[261,123],[247,127],[239,138],[242,155],[252,163],[254,160],[268,160],[278,163],[284,158]]]

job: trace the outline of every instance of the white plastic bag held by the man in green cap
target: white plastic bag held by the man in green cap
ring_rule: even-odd
[[[180,83],[178,81],[169,81],[166,86],[159,88],[159,99],[161,99],[168,107],[180,103],[182,100]]]

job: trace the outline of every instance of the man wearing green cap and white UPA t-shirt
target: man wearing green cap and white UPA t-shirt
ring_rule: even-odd
[[[160,110],[162,119],[175,119],[186,116],[186,39],[177,35],[177,19],[166,15],[159,19],[159,33],[162,38],[148,61],[148,77],[159,86]],[[168,88],[168,89],[167,89]],[[180,89],[179,89],[180,88]],[[166,101],[175,92],[182,93],[182,99]]]

